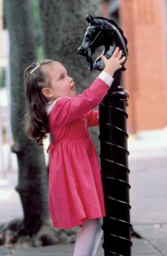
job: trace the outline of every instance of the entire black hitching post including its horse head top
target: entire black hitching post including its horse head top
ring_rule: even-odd
[[[104,45],[102,54],[111,57],[115,47],[128,56],[127,39],[114,20],[86,15],[89,26],[83,44],[77,52],[86,57],[89,70],[103,70],[100,56],[93,61],[92,54]],[[106,217],[104,231],[104,255],[131,256],[131,223],[129,204],[129,168],[127,150],[127,93],[120,85],[124,63],[114,74],[114,81],[107,95],[99,104],[100,162]]]

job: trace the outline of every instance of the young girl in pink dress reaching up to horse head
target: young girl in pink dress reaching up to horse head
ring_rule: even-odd
[[[90,88],[76,95],[76,86],[61,63],[44,60],[26,68],[26,134],[49,146],[49,210],[54,227],[81,225],[74,255],[95,255],[105,216],[102,181],[88,127],[98,125],[94,111],[113,82],[125,58],[115,49]]]

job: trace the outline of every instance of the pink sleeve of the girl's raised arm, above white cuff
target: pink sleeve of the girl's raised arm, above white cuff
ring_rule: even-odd
[[[112,77],[111,77],[112,78]],[[91,84],[90,88],[75,97],[61,97],[49,116],[56,125],[66,125],[97,107],[106,95],[109,86],[100,77]]]

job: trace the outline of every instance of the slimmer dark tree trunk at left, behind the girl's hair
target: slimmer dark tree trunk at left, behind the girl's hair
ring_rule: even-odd
[[[22,232],[32,236],[49,217],[47,168],[44,150],[24,134],[25,109],[23,73],[36,60],[36,44],[31,1],[4,1],[10,32],[10,70],[13,152],[17,154],[19,192],[24,211]]]

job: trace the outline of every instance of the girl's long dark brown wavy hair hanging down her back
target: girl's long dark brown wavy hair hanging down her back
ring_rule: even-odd
[[[42,88],[49,87],[49,79],[42,72],[42,66],[52,62],[52,60],[44,60],[39,63],[38,67],[37,63],[35,67],[31,65],[24,71],[26,87],[25,133],[29,138],[36,140],[38,145],[44,145],[43,140],[47,138],[47,133],[49,133],[48,118],[45,111],[48,100],[42,94]]]

